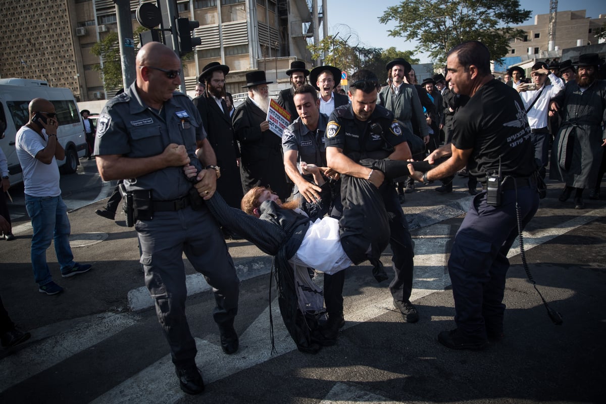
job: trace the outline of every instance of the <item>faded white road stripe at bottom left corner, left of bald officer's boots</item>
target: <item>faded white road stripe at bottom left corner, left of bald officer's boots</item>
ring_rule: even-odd
[[[65,333],[53,333],[41,343],[30,343],[27,348],[2,359],[0,391],[135,325],[138,319],[134,314],[98,314],[71,326]],[[44,335],[45,331],[34,329],[31,333],[32,337],[36,338],[36,335]]]

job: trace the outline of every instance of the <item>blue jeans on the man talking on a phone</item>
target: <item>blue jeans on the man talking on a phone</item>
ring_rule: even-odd
[[[34,280],[44,286],[52,282],[53,277],[46,263],[46,250],[50,241],[55,241],[55,253],[65,272],[74,265],[74,256],[69,243],[70,221],[67,219],[67,207],[59,196],[35,197],[25,194],[25,208],[32,218],[32,267]]]

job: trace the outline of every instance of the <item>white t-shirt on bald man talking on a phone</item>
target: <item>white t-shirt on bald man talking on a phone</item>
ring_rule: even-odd
[[[35,197],[59,196],[61,195],[59,167],[55,156],[50,164],[44,164],[36,159],[36,154],[44,150],[48,144],[48,136],[44,129],[42,136],[26,126],[22,126],[15,136],[17,157],[23,168],[25,193]]]

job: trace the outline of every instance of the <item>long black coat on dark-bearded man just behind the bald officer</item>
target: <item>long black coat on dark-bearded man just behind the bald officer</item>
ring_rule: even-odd
[[[217,180],[217,191],[227,203],[234,208],[240,207],[242,200],[242,183],[237,159],[240,150],[236,136],[231,127],[231,118],[219,108],[213,98],[204,93],[193,100],[198,107],[208,142],[215,150],[217,165],[221,168],[221,178]]]

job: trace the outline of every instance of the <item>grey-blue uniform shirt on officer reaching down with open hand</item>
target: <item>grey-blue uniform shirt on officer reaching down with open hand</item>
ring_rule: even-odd
[[[315,164],[319,167],[326,167],[326,148],[324,146],[324,131],[328,117],[320,113],[318,118],[318,128],[315,131],[309,130],[297,118],[290,124],[282,135],[282,150],[295,150],[299,153],[298,162],[304,161],[309,164]]]

